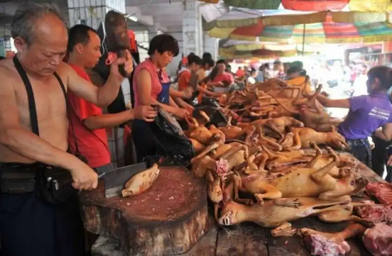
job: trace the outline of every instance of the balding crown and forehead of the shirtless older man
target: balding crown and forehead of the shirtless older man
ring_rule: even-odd
[[[19,37],[28,45],[48,35],[49,38],[61,37],[64,32],[67,33],[67,27],[57,6],[53,4],[24,2],[18,6],[12,18],[12,37]]]

